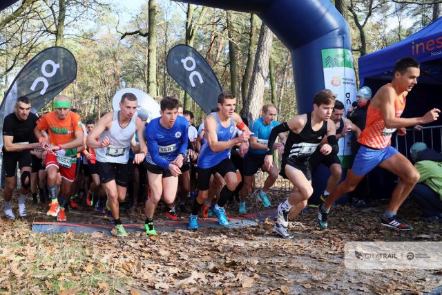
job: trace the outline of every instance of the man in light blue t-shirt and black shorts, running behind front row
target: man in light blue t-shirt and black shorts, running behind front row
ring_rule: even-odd
[[[267,196],[269,189],[275,183],[278,178],[278,168],[273,163],[270,170],[266,170],[264,167],[264,158],[267,151],[267,143],[269,142],[269,135],[273,127],[278,126],[279,122],[276,118],[276,106],[274,104],[265,104],[262,106],[261,117],[253,121],[251,124],[251,132],[253,135],[250,137],[250,149],[247,155],[244,157],[243,173],[244,180],[242,189],[240,191],[241,202],[239,207],[239,213],[247,213],[246,209],[246,197],[249,194],[251,188],[251,182],[253,181],[253,175],[261,168],[262,171],[269,173],[269,176],[264,182],[264,186],[258,192],[258,200],[262,202],[264,207],[270,207],[270,201]],[[285,142],[285,134],[279,134],[280,140]],[[284,144],[282,142],[276,142],[273,144],[273,149],[284,150]]]

